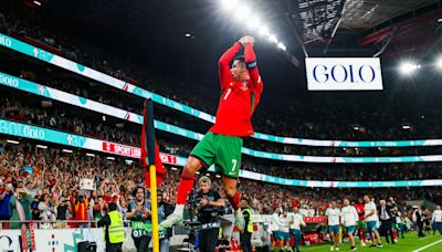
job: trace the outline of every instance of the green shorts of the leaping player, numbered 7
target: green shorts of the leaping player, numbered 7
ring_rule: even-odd
[[[200,159],[208,168],[214,165],[215,172],[238,178],[241,166],[242,138],[207,133],[190,156]]]

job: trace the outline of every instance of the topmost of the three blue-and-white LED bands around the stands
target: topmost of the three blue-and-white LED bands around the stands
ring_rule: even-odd
[[[151,97],[155,103],[158,103],[164,106],[170,107],[172,109],[191,115],[196,118],[200,118],[200,119],[203,119],[209,123],[214,123],[215,117],[208,113],[204,113],[199,109],[187,106],[185,104],[178,103],[178,102],[167,98],[162,95],[158,95],[156,93],[146,91],[146,90],[138,87],[134,84],[130,84],[128,82],[118,80],[108,74],[90,69],[82,64],[75,63],[71,60],[55,55],[51,52],[44,51],[34,45],[15,40],[11,36],[8,36],[4,34],[1,34],[1,33],[0,33],[0,44],[4,48],[23,53],[23,54],[32,56],[34,59],[41,60],[43,62],[51,63],[55,66],[65,69],[67,71],[74,72],[76,74],[83,75],[83,76],[92,78],[92,80],[95,80],[103,84],[106,84],[106,85],[113,86],[115,88],[118,88],[120,91],[127,92],[129,94],[137,95],[143,98]],[[2,81],[2,83],[3,83],[3,81]],[[3,84],[7,84],[7,83],[3,83]],[[182,133],[185,134],[185,132],[182,132]],[[186,134],[188,134],[188,133],[189,133],[189,130],[186,132]],[[190,133],[190,134],[192,134],[192,133]],[[198,135],[198,137],[193,138],[193,139],[200,139],[199,137],[200,136]],[[269,135],[269,134],[263,134],[263,133],[255,133],[253,138],[280,143],[280,144],[302,145],[302,146],[323,146],[323,147],[415,147],[415,146],[442,145],[442,139],[371,140],[371,141],[316,140],[316,139],[274,136],[274,135]],[[254,151],[254,150],[245,150],[245,151],[246,151],[245,154],[253,155],[252,151]],[[282,160],[284,160],[284,159],[282,159]]]

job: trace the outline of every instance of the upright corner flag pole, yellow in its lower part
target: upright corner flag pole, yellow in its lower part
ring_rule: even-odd
[[[155,166],[155,128],[154,128],[154,103],[151,97],[146,102],[147,112],[147,149],[150,174],[150,202],[152,220],[152,245],[154,252],[159,252],[159,229],[158,229],[158,202],[157,202],[157,168]]]

